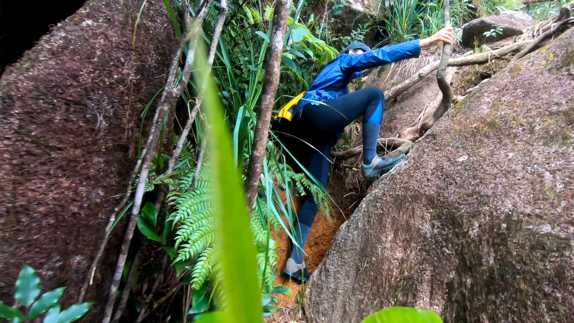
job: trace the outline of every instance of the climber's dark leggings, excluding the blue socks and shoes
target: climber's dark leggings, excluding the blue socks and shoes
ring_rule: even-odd
[[[369,87],[325,103],[329,106],[305,105],[301,118],[291,122],[283,121],[278,127],[280,131],[292,134],[313,146],[309,147],[294,137],[285,139],[287,149],[324,187],[327,186],[329,175],[331,147],[339,139],[345,126],[360,116],[363,116],[363,124],[370,122],[380,125],[385,95],[378,88]],[[375,143],[377,135],[378,129]],[[291,164],[298,169],[296,163]],[[311,226],[319,206],[315,204],[311,192],[306,193],[305,201],[298,212],[298,221]]]

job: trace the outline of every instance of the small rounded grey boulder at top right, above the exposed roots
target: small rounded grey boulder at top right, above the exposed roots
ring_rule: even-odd
[[[493,43],[506,37],[522,34],[526,28],[532,26],[534,20],[528,13],[522,11],[506,10],[496,16],[476,18],[464,24],[461,36],[464,47],[474,47],[476,41],[479,45]],[[496,37],[485,37],[484,32],[488,32],[496,26],[502,27],[502,34]]]

